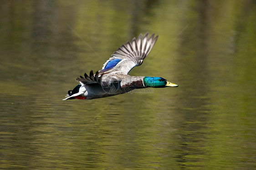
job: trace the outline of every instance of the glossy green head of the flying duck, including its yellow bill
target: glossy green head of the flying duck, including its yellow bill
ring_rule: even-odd
[[[144,77],[144,85],[146,87],[178,87],[179,85],[170,83],[163,77]]]

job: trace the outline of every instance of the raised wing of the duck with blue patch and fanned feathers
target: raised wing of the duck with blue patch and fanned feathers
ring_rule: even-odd
[[[131,42],[125,43],[125,45],[122,45],[113,53],[109,60],[103,65],[99,74],[128,74],[133,67],[142,64],[157,39],[158,35],[154,37],[154,34],[148,38],[148,33],[144,36],[140,34],[137,39],[134,37]]]

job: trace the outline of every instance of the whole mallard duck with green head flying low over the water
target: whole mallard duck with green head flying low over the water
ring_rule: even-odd
[[[125,43],[103,65],[102,70],[90,75],[84,74],[76,80],[79,81],[73,90],[69,90],[63,100],[70,99],[97,99],[113,95],[127,93],[134,89],[147,87],[178,87],[162,77],[130,76],[129,71],[133,67],[141,65],[144,58],[152,50],[158,35],[148,33],[138,39]]]

